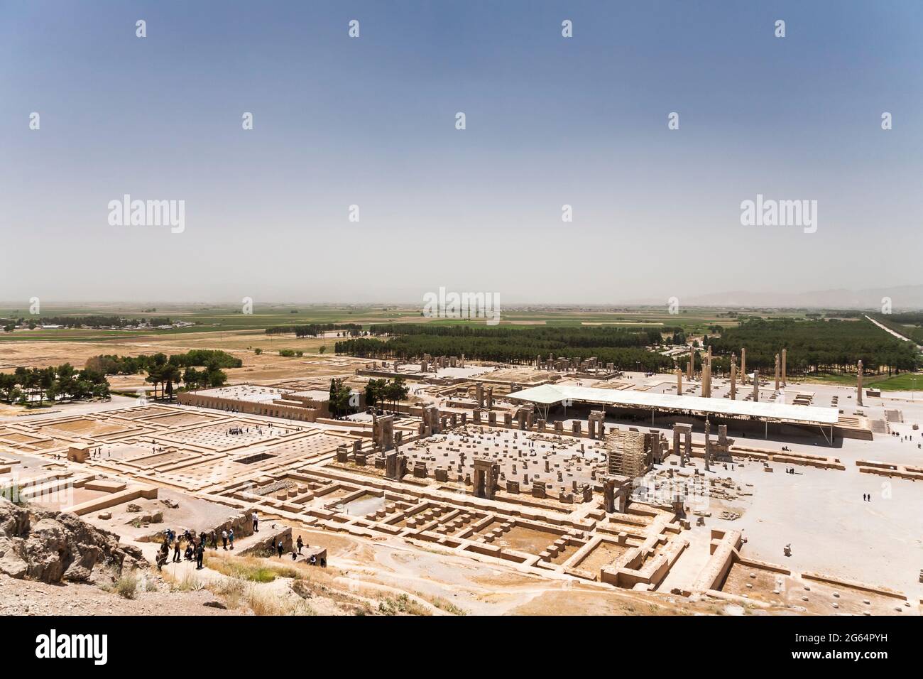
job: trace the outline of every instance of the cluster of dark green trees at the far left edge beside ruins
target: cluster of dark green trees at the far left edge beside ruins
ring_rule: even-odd
[[[76,370],[70,363],[50,368],[17,368],[0,374],[0,401],[42,406],[45,401],[108,398],[109,382],[97,370]]]

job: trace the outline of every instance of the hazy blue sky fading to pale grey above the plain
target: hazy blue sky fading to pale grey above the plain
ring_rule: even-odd
[[[921,30],[919,2],[0,0],[0,299],[920,283]],[[185,231],[110,225],[126,193]],[[742,226],[758,193],[817,233]]]

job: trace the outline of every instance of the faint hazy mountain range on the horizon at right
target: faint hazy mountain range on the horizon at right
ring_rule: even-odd
[[[881,298],[890,297],[892,308],[923,309],[923,285],[872,287],[863,290],[818,290],[804,293],[756,293],[737,290],[680,299],[696,307],[795,307],[812,309],[881,309]]]

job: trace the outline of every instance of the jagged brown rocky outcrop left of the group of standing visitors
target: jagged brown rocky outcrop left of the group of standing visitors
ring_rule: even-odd
[[[77,515],[22,507],[0,498],[0,573],[42,582],[87,582],[93,567],[147,565],[140,550]]]

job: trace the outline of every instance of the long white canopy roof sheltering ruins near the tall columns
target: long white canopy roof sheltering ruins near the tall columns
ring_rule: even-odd
[[[603,404],[606,406],[628,406],[643,408],[665,408],[691,410],[715,415],[737,415],[753,418],[784,419],[811,424],[836,424],[839,411],[831,407],[793,406],[785,403],[754,403],[732,401],[729,398],[704,398],[702,396],[677,396],[673,394],[650,394],[631,390],[597,389],[569,384],[543,384],[509,394],[518,401],[550,406],[561,401]]]

